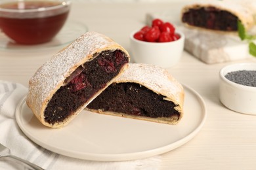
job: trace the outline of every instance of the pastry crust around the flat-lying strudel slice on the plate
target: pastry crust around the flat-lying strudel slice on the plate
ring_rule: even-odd
[[[148,118],[143,116],[129,115],[121,112],[110,112],[89,109],[100,114],[110,114],[114,116],[122,116],[125,118],[135,118],[138,120],[148,120],[151,122],[158,122],[164,124],[177,124],[183,116],[184,104],[184,88],[182,85],[171,76],[167,70],[155,65],[148,65],[142,63],[129,63],[129,67],[124,73],[115,78],[113,83],[134,82],[140,84],[152,92],[165,96],[164,100],[172,101],[177,105],[175,110],[180,113],[180,116],[173,116],[170,118]]]

